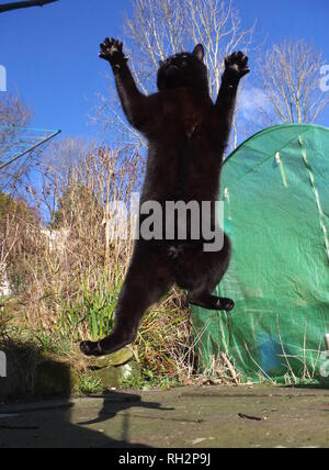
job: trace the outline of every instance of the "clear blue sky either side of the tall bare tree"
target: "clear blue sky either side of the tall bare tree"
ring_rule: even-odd
[[[268,37],[270,45],[303,37],[324,51],[329,64],[327,0],[235,4],[243,26],[258,20],[256,41]],[[0,15],[0,65],[8,70],[8,90],[32,109],[34,125],[61,128],[64,136],[97,135],[88,115],[98,103],[97,93],[109,90],[99,44],[107,35],[122,37],[122,15],[128,9],[128,0],[59,0]],[[249,80],[252,85],[252,76]],[[321,123],[327,123],[326,116]]]

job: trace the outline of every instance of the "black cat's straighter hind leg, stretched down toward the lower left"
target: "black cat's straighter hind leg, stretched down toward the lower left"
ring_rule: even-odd
[[[120,293],[115,325],[110,336],[100,342],[83,342],[87,356],[104,356],[133,343],[146,310],[158,302],[173,283],[169,267],[157,249],[136,246],[131,267]]]

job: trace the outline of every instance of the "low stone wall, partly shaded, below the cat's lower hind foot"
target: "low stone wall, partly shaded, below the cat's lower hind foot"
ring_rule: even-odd
[[[87,371],[78,371],[69,359],[43,355],[32,346],[0,345],[7,357],[7,377],[0,378],[0,401],[25,398],[71,396],[80,392],[81,376],[98,379],[104,389],[116,389],[122,379],[138,377],[132,348],[90,359]]]

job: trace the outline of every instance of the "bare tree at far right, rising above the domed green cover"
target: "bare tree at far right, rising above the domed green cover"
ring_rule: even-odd
[[[264,124],[315,122],[329,103],[320,90],[322,54],[305,41],[274,44],[260,59]]]

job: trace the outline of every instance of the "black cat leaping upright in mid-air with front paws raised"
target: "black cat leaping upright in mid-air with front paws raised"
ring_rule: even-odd
[[[192,54],[178,54],[160,63],[159,92],[151,96],[138,91],[122,43],[105,40],[101,44],[100,57],[112,66],[128,122],[148,139],[148,165],[140,204],[156,201],[164,209],[167,201],[196,201],[198,204],[209,201],[212,227],[215,235],[222,235],[223,244],[216,251],[205,250],[205,237],[202,234],[198,238],[193,237],[191,216],[186,217],[184,240],[178,236],[177,227],[170,239],[140,237],[136,240],[120,294],[113,333],[98,343],[81,343],[81,350],[88,356],[107,355],[134,342],[145,311],[173,284],[188,290],[189,302],[194,305],[227,312],[234,309],[230,299],[212,295],[230,257],[229,239],[216,222],[215,202],[238,85],[250,71],[248,58],[242,53],[228,56],[214,104],[202,45],[197,45]],[[197,215],[200,223],[204,215],[202,211]],[[140,228],[145,219],[145,215],[140,216]],[[167,228],[164,222],[163,234]]]

